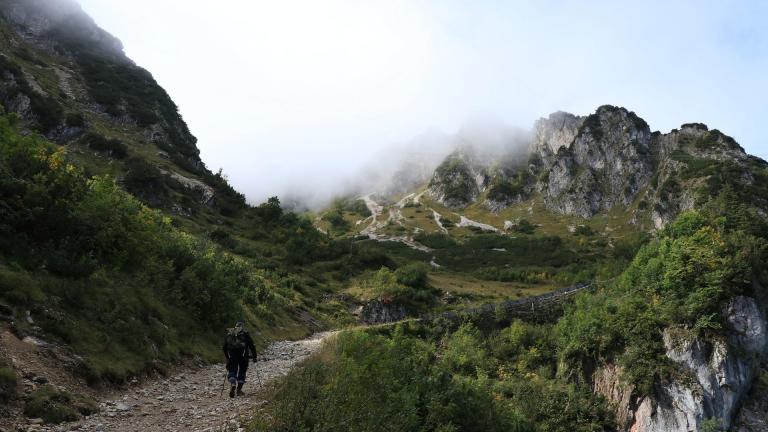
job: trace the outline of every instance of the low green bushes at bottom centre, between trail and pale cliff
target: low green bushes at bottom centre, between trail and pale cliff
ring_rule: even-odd
[[[350,332],[283,380],[256,430],[593,431],[611,415],[588,390],[551,379],[545,328],[494,335],[471,324]]]

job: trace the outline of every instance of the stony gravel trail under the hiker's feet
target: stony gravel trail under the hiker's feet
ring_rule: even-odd
[[[245,396],[230,399],[224,386],[224,364],[179,371],[147,383],[134,383],[99,405],[101,412],[62,425],[27,420],[19,431],[238,431],[265,404],[266,385],[319,350],[335,332],[317,333],[299,341],[274,342],[248,368]],[[223,391],[222,391],[223,389]],[[1,428],[0,428],[1,429]]]

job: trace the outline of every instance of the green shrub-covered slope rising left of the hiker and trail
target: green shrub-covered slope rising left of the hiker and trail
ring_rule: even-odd
[[[63,149],[0,118],[0,298],[85,355],[90,380],[213,349],[234,320],[274,320],[295,293],[175,229]],[[6,267],[7,266],[7,267]]]

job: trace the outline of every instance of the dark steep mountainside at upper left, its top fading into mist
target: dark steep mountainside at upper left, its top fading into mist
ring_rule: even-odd
[[[76,2],[0,0],[0,33],[0,110],[153,207],[192,217],[244,206],[201,162],[165,90]]]

